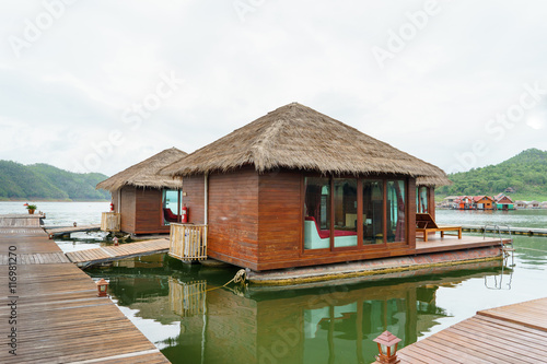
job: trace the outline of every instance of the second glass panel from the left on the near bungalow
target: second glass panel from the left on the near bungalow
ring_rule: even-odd
[[[334,179],[335,248],[357,246],[357,178]]]

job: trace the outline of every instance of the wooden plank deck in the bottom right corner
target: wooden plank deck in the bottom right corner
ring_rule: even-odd
[[[401,349],[400,363],[547,363],[547,298],[480,310]]]

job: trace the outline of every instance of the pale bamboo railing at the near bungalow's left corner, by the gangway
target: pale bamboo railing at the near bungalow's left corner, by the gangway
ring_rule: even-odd
[[[170,256],[181,260],[207,259],[207,225],[171,223]]]

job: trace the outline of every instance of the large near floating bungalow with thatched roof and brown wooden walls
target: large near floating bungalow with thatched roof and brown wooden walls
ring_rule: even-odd
[[[189,209],[189,224],[172,225],[171,255],[253,271],[414,256],[416,215],[434,218],[434,187],[450,184],[440,168],[298,103],[161,174],[184,178]]]

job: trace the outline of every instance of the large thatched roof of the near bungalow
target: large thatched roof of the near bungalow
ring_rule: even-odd
[[[292,103],[188,154],[161,174],[187,176],[254,165],[322,173],[446,177],[440,168],[326,115]]]

